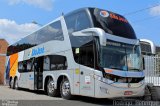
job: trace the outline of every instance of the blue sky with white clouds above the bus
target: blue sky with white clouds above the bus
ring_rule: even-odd
[[[59,17],[62,12],[98,7],[126,14],[139,39],[149,39],[160,45],[160,6],[155,6],[159,4],[159,0],[0,0],[0,38],[12,44]],[[153,8],[146,9],[148,7]],[[137,10],[141,11],[135,12]],[[135,13],[127,15],[131,12]]]

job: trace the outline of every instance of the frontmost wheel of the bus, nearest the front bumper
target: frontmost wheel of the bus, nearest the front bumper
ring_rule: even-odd
[[[68,79],[64,79],[62,80],[61,82],[61,85],[60,85],[60,93],[61,93],[61,97],[63,99],[72,99],[72,95],[71,95],[71,87],[70,87],[70,83],[68,81]]]

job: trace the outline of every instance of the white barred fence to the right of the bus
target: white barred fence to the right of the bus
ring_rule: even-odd
[[[145,56],[145,82],[160,86],[160,56]]]

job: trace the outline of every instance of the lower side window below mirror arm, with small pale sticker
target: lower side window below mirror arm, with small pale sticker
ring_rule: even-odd
[[[93,37],[70,37],[74,59],[77,63],[94,67]],[[74,43],[76,41],[77,43]]]

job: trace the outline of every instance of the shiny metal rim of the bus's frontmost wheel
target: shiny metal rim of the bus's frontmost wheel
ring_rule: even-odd
[[[64,96],[67,96],[70,94],[70,84],[69,81],[64,81],[62,84],[62,93]]]

